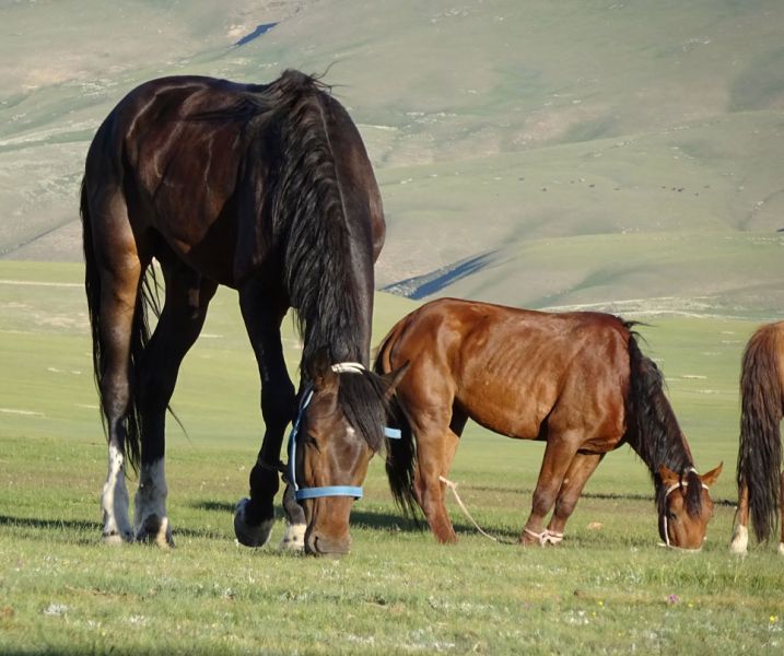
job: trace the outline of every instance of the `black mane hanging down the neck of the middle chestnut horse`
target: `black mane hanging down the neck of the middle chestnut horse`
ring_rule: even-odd
[[[631,325],[628,325],[631,328]],[[698,516],[702,508],[702,481],[692,471],[694,460],[672,407],[664,391],[664,376],[656,363],[645,356],[635,338],[629,336],[629,397],[628,412],[633,418],[628,432],[629,445],[647,465],[656,487],[659,514],[664,511],[665,488],[658,473],[664,465],[676,473],[684,475],[687,512]]]

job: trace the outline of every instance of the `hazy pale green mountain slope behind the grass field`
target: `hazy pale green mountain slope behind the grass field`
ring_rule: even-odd
[[[382,184],[379,286],[784,309],[779,0],[82,0],[0,23],[4,257],[79,258],[86,145],[137,83],[331,65]]]

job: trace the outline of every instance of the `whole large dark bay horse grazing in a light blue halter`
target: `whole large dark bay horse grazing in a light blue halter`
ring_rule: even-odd
[[[385,225],[360,134],[329,87],[297,71],[266,85],[201,77],[140,85],[93,139],[81,214],[94,371],[108,433],[106,542],[172,543],[165,415],[219,284],[238,292],[264,390],[266,431],[249,499],[235,513],[239,542],[269,539],[283,431],[297,411],[280,336],[289,307],[304,342],[302,390],[312,393],[301,414],[321,448],[305,448],[300,481],[361,484],[367,459],[384,443],[389,389],[388,379],[363,366]],[[160,311],[153,258],[165,281]],[[149,308],[157,315],[152,335]],[[347,361],[355,364],[341,367]],[[139,468],[136,526],[127,465]],[[300,539],[307,551],[348,551],[352,501],[320,496],[303,504]],[[293,512],[302,518],[296,504]]]

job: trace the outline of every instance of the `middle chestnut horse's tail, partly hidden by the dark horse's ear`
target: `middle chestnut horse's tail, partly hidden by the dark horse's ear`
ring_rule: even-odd
[[[377,374],[388,374],[393,371],[391,350],[395,342],[403,330],[403,324],[399,321],[384,338],[373,365]],[[389,402],[389,424],[400,430],[400,440],[389,440],[387,446],[386,470],[389,480],[389,489],[398,507],[408,517],[417,516],[417,499],[414,496],[414,468],[417,462],[417,445],[413,440],[413,432],[406,411],[396,394]]]

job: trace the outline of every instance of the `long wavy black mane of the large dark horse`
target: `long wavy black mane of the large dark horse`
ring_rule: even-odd
[[[286,71],[262,94],[283,104],[289,99],[281,122],[282,166],[273,174],[271,237],[304,341],[303,372],[323,348],[332,362],[366,360],[358,303],[365,290],[358,278],[372,277],[373,270],[372,262],[354,261],[351,219],[326,126],[328,90],[314,77]],[[363,265],[370,271],[358,277]]]

